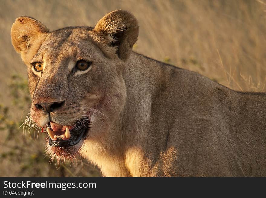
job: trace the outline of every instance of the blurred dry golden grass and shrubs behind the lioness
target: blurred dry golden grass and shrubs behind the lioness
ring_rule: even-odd
[[[0,1],[0,176],[98,176],[86,162],[56,168],[44,157],[42,134],[19,129],[29,112],[26,69],[11,45],[16,17],[31,16],[50,30],[94,26],[106,13],[131,11],[140,34],[134,50],[199,72],[235,90],[266,90],[265,0]],[[33,134],[31,133],[31,137]]]

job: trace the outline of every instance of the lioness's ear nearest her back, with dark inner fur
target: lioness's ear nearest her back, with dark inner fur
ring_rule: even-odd
[[[138,39],[138,21],[129,11],[116,10],[106,14],[92,30],[101,42],[117,48],[117,55],[127,59]]]

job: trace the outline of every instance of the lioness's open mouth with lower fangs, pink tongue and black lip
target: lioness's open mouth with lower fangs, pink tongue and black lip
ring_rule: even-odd
[[[74,125],[64,126],[54,122],[47,123],[47,135],[50,146],[73,146],[82,139],[89,130],[89,120],[78,121]]]

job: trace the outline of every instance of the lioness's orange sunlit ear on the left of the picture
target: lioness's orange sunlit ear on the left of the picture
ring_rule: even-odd
[[[18,17],[11,27],[11,41],[24,60],[25,55],[33,46],[34,48],[40,47],[46,33],[49,33],[49,30],[41,22],[30,17]]]

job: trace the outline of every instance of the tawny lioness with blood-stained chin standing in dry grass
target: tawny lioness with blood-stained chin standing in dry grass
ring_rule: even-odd
[[[15,20],[12,44],[50,156],[84,156],[103,176],[266,176],[266,93],[132,52],[138,31],[125,10],[52,32]]]

